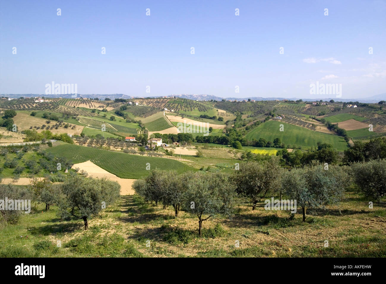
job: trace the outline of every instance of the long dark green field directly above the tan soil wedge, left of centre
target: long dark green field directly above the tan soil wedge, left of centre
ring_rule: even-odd
[[[47,151],[71,159],[73,163],[90,160],[123,179],[140,179],[146,176],[149,173],[146,170],[146,163],[150,163],[151,169],[176,170],[179,173],[194,170],[194,168],[172,159],[130,155],[71,144],[55,146]]]

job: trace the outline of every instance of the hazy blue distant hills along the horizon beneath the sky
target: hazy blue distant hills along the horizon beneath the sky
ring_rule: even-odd
[[[46,94],[1,94],[2,97],[10,97],[10,98],[20,98],[20,97],[49,97],[49,98],[69,98],[71,99],[71,94],[68,95],[46,95]],[[100,100],[104,100],[105,98],[110,98],[110,99],[135,99],[135,98],[143,98],[141,96],[138,97],[133,97],[133,96],[128,96],[125,94],[78,94],[78,97],[83,97],[83,98],[98,98]],[[148,96],[148,97],[164,97],[164,96]],[[170,95],[168,97],[178,97],[178,98],[183,98],[183,99],[190,99],[190,100],[303,100],[303,101],[316,101],[316,100],[335,100],[337,102],[363,102],[363,103],[377,103],[380,100],[386,100],[386,93],[379,94],[379,95],[374,95],[372,97],[367,97],[367,98],[360,98],[360,99],[343,99],[343,98],[284,98],[284,97],[268,97],[268,98],[263,98],[263,97],[245,97],[245,98],[236,98],[236,97],[227,97],[227,98],[222,98],[222,97],[217,97],[213,95],[187,95],[187,94],[178,94],[178,95]]]

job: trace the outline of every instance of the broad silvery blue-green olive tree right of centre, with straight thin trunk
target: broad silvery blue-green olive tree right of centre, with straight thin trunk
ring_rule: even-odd
[[[316,165],[286,172],[281,186],[289,199],[296,200],[296,205],[302,208],[305,222],[307,208],[339,202],[348,185],[348,175],[342,167],[325,169]]]

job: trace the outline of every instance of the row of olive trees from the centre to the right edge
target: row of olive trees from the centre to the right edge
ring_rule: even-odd
[[[313,161],[309,166],[287,171],[273,157],[262,164],[243,163],[230,175],[202,171],[177,175],[156,169],[145,179],[136,180],[133,188],[146,201],[173,206],[176,218],[180,210],[196,215],[201,235],[203,221],[216,214],[234,213],[236,196],[248,198],[252,210],[262,198],[270,196],[296,200],[305,221],[307,208],[336,204],[352,181],[366,196],[379,199],[386,193],[384,180],[386,160],[327,168]]]

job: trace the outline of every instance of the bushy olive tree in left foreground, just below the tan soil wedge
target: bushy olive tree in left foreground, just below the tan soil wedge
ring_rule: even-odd
[[[64,198],[59,202],[62,218],[74,216],[83,219],[85,230],[88,230],[87,218],[102,211],[102,206],[108,206],[117,201],[120,185],[112,180],[102,178],[84,178],[75,175],[66,179],[61,186]]]

